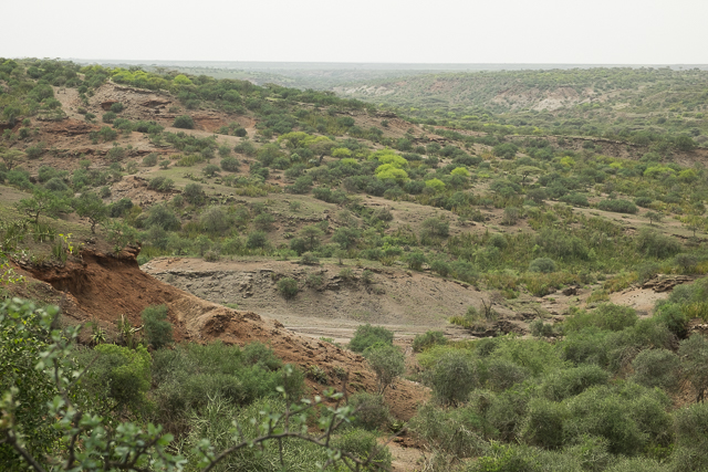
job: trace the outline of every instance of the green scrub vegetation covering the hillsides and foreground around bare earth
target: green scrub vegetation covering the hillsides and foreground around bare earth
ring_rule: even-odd
[[[330,402],[300,403],[303,378],[319,378],[316,369],[285,366],[267,346],[175,345],[164,306],[143,314],[143,336],[118,321],[113,344],[96,327],[87,346],[74,328],[52,324],[53,308],[7,301],[0,359],[12,361],[0,384],[0,463],[9,470],[386,468],[391,457],[376,438],[400,424],[383,398],[405,375],[433,392],[407,424],[429,452],[429,470],[708,466],[708,342],[689,335],[690,319],[708,321],[706,279],[675,289],[650,317],[606,303],[657,274],[708,273],[708,174],[695,158],[706,141],[705,72],[421,76],[409,82],[420,96],[387,98],[405,109],[403,120],[331,92],[179,71],[0,64],[0,183],[17,197],[0,207],[3,297],[19,281],[6,254],[61,266],[95,238],[116,253],[140,242],[140,263],[329,261],[347,265],[343,280],[354,264],[427,271],[493,295],[450,319],[485,333],[496,305],[600,286],[563,323],[539,316],[532,339],[420,336],[415,373],[393,333],[363,325],[348,347],[367,359],[377,388],[346,405],[334,392]],[[431,81],[467,102],[438,97]],[[173,117],[136,118],[117,103],[98,123],[92,99],[113,84],[162,94]],[[502,88],[583,98],[532,109],[493,101]],[[56,98],[66,90],[90,127],[81,148],[93,155],[49,141],[46,123],[71,112]],[[201,112],[227,124],[196,133]],[[116,185],[138,171],[150,202],[116,198]],[[426,217],[404,222],[403,204]],[[277,293],[296,300],[322,285],[315,277],[306,286],[280,279]]]

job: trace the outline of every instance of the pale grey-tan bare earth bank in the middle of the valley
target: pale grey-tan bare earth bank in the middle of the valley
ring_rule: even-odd
[[[466,329],[448,319],[464,315],[469,306],[480,308],[482,298],[489,297],[466,283],[394,268],[369,268],[371,279],[366,279],[363,266],[159,258],[142,269],[200,298],[237,304],[295,332],[336,342],[348,342],[364,323],[386,326],[402,342],[428,329],[442,331],[448,338],[469,338]],[[298,281],[294,297],[285,298],[278,291],[282,277]]]

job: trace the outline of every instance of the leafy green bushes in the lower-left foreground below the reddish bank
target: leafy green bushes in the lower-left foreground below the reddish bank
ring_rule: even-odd
[[[144,416],[149,416],[149,408],[144,408],[149,403],[144,397],[150,379],[147,352],[139,346],[133,350],[100,345],[87,369],[81,368],[75,359],[81,327],[59,329],[58,314],[56,307],[38,308],[17,298],[0,305],[3,334],[0,354],[3,361],[11,359],[14,366],[3,369],[0,377],[3,470],[29,466],[38,472],[153,469],[206,472],[391,466],[391,453],[377,444],[375,436],[357,429],[341,432],[355,413],[355,407],[345,403],[343,394],[326,392],[333,406],[322,405],[320,397],[293,402],[291,387],[301,386],[302,377],[292,378],[293,368],[282,367],[262,345],[251,345],[243,352],[220,345],[158,350],[162,357],[156,361],[158,368],[153,379],[162,386],[171,385],[173,398],[184,395],[175,390],[177,379],[170,378],[183,374],[171,369],[176,363],[181,363],[179,367],[191,366],[192,375],[200,373],[202,384],[201,405],[171,410],[186,416],[186,430],[181,431],[187,434],[186,440],[177,445],[174,436],[165,433],[162,426],[145,421]],[[273,368],[282,382],[271,390],[272,397],[257,394],[250,401],[240,396],[230,399],[229,386],[220,381],[233,378],[236,384],[231,386],[239,379],[259,384],[253,376],[268,375]],[[237,376],[228,376],[233,369]],[[219,384],[226,388],[219,390]],[[196,386],[189,388],[194,391]],[[251,405],[243,408],[244,400]],[[124,422],[112,415],[117,406],[133,421]],[[322,432],[310,433],[308,421],[316,411],[323,413],[319,419]],[[159,410],[156,413],[157,418],[165,415]]]

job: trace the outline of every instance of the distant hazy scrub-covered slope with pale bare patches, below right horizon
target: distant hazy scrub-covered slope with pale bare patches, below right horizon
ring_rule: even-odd
[[[584,135],[650,144],[684,135],[708,140],[708,72],[589,69],[430,74],[334,90],[400,108],[431,124],[508,133]],[[485,128],[487,125],[487,128]]]

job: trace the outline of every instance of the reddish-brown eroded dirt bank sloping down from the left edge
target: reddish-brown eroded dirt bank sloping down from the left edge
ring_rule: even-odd
[[[64,317],[70,323],[97,321],[113,331],[113,323],[124,315],[134,325],[140,324],[140,312],[148,305],[166,304],[177,340],[207,343],[221,340],[244,345],[261,342],[269,345],[285,363],[304,371],[319,366],[327,374],[327,384],[341,386],[341,373],[348,373],[348,391],[374,391],[376,377],[364,358],[334,344],[301,336],[280,322],[251,311],[231,310],[204,301],[195,295],[158,281],[140,271],[137,250],[107,254],[85,249],[81,259],[64,266],[23,266],[28,285],[35,285],[46,300],[60,300]],[[39,283],[38,283],[39,281]],[[38,287],[40,285],[41,287]],[[308,380],[313,394],[325,385]],[[386,394],[392,412],[407,420],[428,397],[427,389],[400,379]]]

